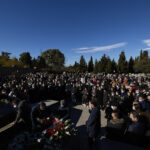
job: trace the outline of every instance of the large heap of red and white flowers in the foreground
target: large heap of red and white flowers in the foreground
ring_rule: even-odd
[[[77,130],[70,120],[65,122],[53,121],[53,127],[49,127],[43,132],[29,133],[23,132],[17,135],[8,144],[7,150],[62,150],[67,137],[77,135]]]

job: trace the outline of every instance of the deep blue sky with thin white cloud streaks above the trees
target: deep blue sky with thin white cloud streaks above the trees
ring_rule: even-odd
[[[129,59],[150,49],[149,18],[150,0],[0,0],[0,52],[57,48],[66,65],[122,50]]]

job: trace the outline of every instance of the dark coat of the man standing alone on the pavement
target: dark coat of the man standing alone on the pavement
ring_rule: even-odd
[[[100,132],[100,110],[99,107],[92,109],[91,114],[86,122],[89,137],[96,137]]]

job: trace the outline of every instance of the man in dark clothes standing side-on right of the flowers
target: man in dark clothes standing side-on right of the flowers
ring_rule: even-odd
[[[86,122],[88,132],[88,143],[90,150],[98,149],[97,138],[100,134],[100,109],[97,105],[97,99],[92,99],[89,102],[91,114]]]

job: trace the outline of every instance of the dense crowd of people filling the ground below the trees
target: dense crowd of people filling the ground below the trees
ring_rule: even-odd
[[[8,99],[10,103],[14,99],[29,103],[57,99],[64,100],[66,104],[82,103],[84,107],[91,110],[89,101],[94,99],[96,101],[93,102],[94,106],[105,111],[108,134],[114,134],[112,128],[119,130],[119,134],[128,132],[135,136],[150,134],[149,75],[28,73],[19,78],[2,79],[0,99]],[[43,110],[43,108],[45,106],[41,104],[39,109]],[[38,113],[37,111],[35,114]],[[67,113],[68,111],[61,118],[66,115],[68,117]]]

